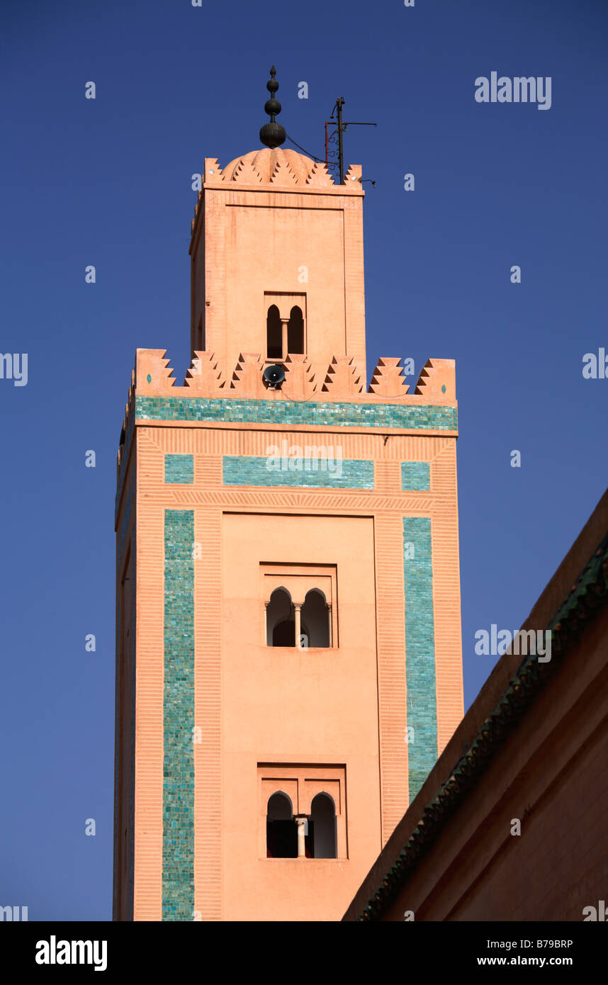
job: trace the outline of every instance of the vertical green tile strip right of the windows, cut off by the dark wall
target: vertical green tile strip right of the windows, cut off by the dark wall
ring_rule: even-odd
[[[437,762],[437,697],[431,520],[403,518],[405,676],[410,803]]]

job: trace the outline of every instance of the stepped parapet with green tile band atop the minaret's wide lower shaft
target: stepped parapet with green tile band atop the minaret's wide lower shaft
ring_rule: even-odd
[[[262,374],[269,362],[260,353],[240,353],[236,365],[229,366],[212,352],[198,351],[183,386],[178,386],[166,350],[138,349],[120,431],[116,508],[134,427],[152,420],[457,435],[453,360],[428,360],[413,393],[397,358],[377,361],[367,393],[365,375],[353,357],[332,357],[326,371],[317,376],[306,356],[290,354],[282,362],[286,378],[278,389],[264,385]]]

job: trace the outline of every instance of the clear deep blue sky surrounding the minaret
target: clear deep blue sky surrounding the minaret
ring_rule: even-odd
[[[608,351],[608,8],[3,0],[0,17],[0,351],[29,355],[27,386],[0,380],[0,905],[109,919],[115,454],[135,349],[166,348],[177,377],[188,362],[190,175],[259,146],[273,62],[311,153],[338,96],[377,122],[345,138],[376,182],[368,372],[456,360],[468,705],[495,662],[475,630],[521,624],[607,485],[608,379],[581,366]],[[477,103],[492,71],[551,76],[551,108]]]

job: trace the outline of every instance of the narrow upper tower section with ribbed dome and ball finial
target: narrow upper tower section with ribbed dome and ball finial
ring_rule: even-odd
[[[191,348],[225,365],[304,355],[323,378],[350,357],[366,378],[361,167],[334,184],[325,164],[280,145],[275,70],[266,147],[226,167],[205,160],[192,221]]]

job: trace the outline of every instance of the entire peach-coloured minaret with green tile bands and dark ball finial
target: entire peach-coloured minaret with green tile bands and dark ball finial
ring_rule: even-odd
[[[454,365],[366,386],[361,168],[206,159],[118,453],[114,915],[340,919],[462,715]],[[274,368],[270,368],[274,367]]]

